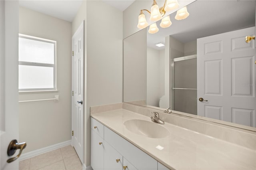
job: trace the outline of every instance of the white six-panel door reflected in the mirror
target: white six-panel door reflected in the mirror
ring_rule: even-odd
[[[255,127],[255,27],[197,40],[198,115]]]

